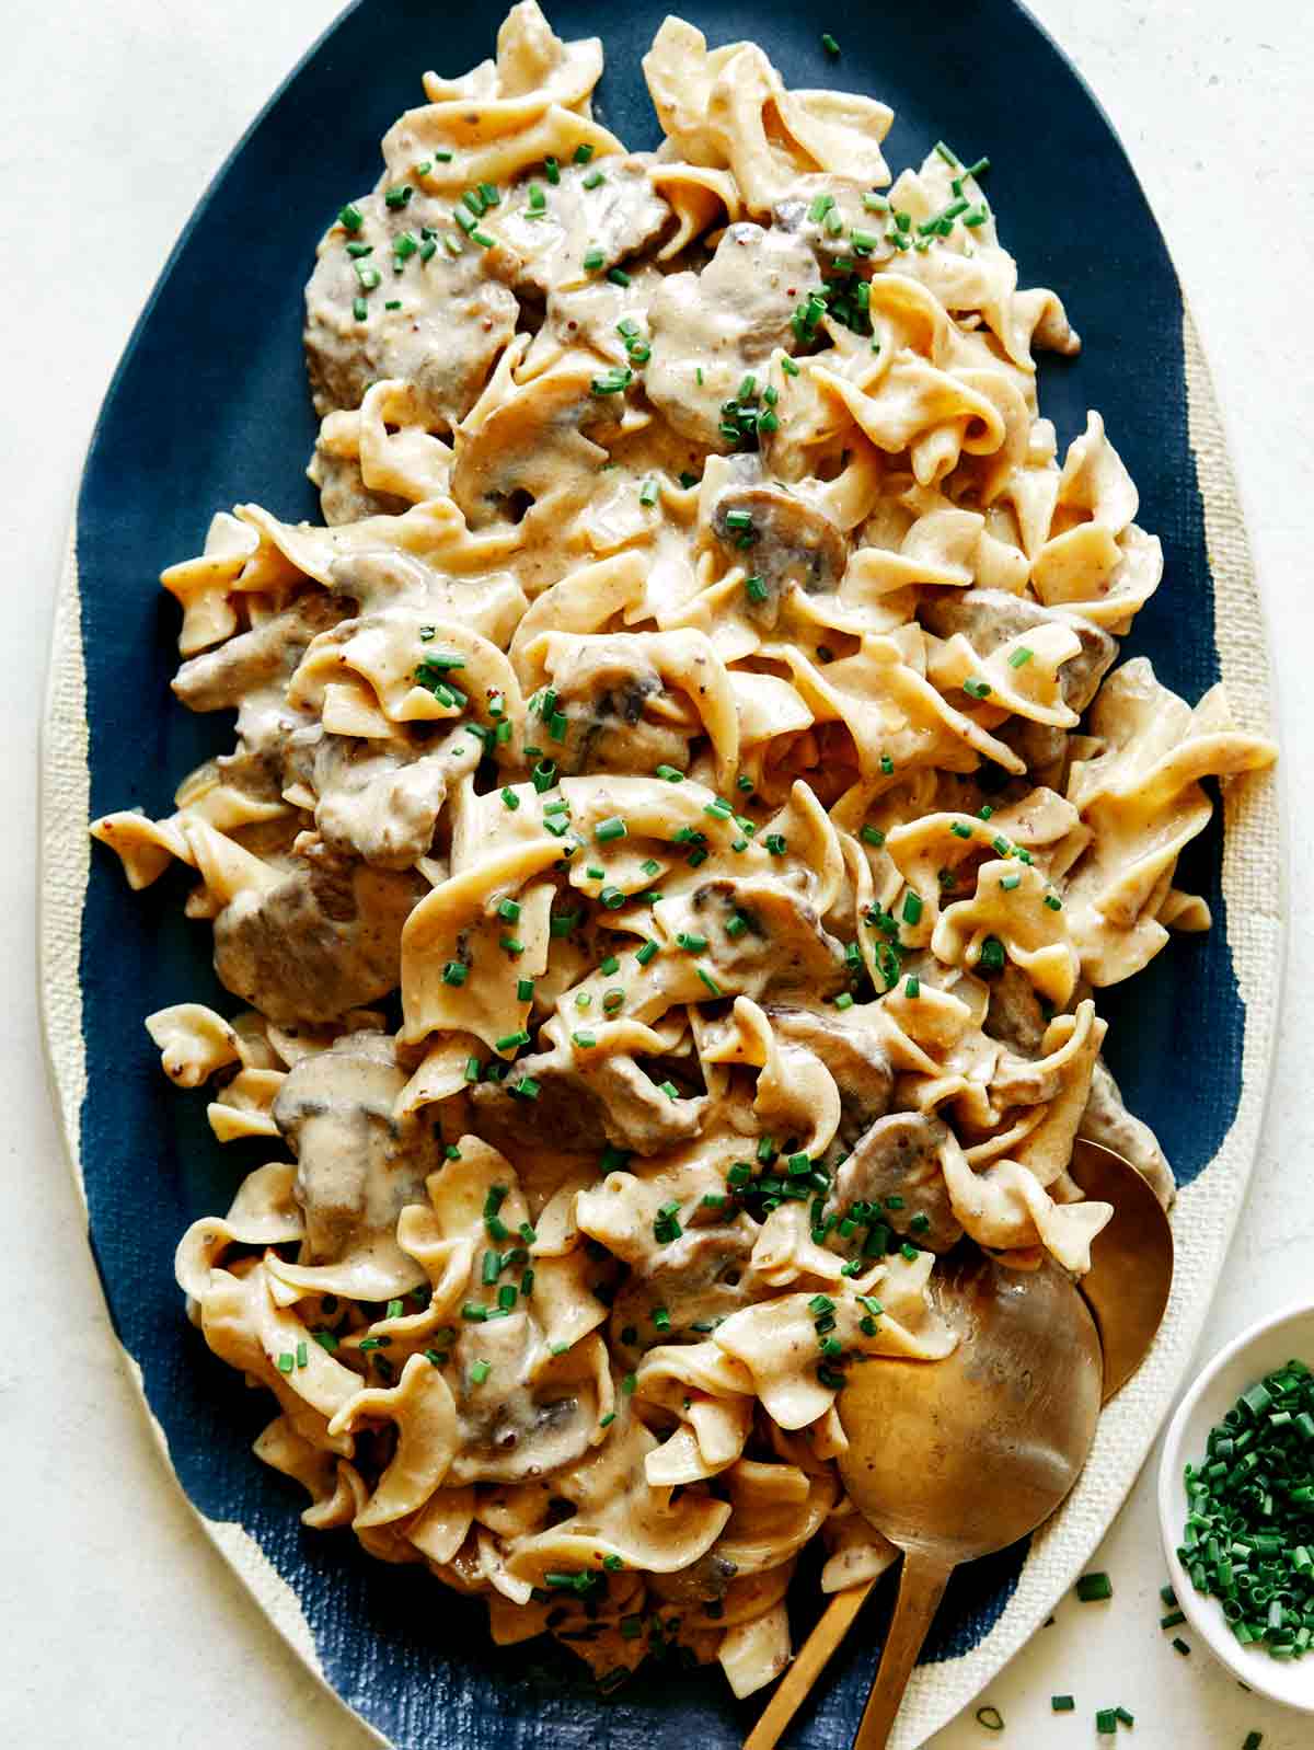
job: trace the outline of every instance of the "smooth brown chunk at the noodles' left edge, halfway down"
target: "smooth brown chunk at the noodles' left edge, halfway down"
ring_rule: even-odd
[[[395,989],[402,924],[425,891],[418,875],[313,845],[276,886],[224,906],[215,971],[273,1022],[336,1020]]]

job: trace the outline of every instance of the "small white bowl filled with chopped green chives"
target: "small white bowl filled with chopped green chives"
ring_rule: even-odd
[[[1314,1306],[1253,1325],[1199,1376],[1164,1440],[1158,1522],[1183,1633],[1314,1713]]]

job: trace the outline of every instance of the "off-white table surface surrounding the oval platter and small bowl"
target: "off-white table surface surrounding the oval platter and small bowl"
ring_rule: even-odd
[[[9,723],[0,763],[0,1741],[21,1750],[360,1750],[373,1741],[266,1626],[194,1528],[145,1433],[47,1108],[31,1003],[35,726],[82,452],[192,205],[336,10],[338,0],[0,5],[0,676]],[[1267,1309],[1314,1292],[1314,938],[1302,910],[1314,849],[1314,810],[1302,807],[1314,794],[1305,716],[1314,695],[1312,38],[1302,0],[1034,0],[1034,10],[1122,131],[1195,306],[1283,691],[1297,901],[1286,1012],[1255,1188],[1206,1328],[1209,1353]],[[437,4],[434,19],[432,51],[416,44],[416,75],[441,61]],[[1043,173],[1060,180],[1062,166]],[[1092,248],[1101,219],[1116,226],[1116,214],[1092,214]],[[1055,1626],[982,1698],[1003,1712],[1004,1738],[985,1732],[969,1708],[934,1750],[1090,1745],[1094,1710],[1116,1703],[1136,1713],[1143,1750],[1239,1750],[1249,1729],[1263,1731],[1265,1750],[1314,1745],[1314,1722],[1244,1694],[1204,1648],[1181,1659],[1160,1636],[1151,1484],[1153,1461],[1097,1556],[1115,1601],[1064,1603]],[[1076,1717],[1052,1717],[1053,1690],[1078,1696]]]

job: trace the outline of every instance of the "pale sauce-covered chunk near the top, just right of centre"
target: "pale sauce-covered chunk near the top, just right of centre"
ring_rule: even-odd
[[[649,401],[686,438],[709,450],[733,448],[721,430],[721,404],[777,346],[793,350],[791,317],[817,282],[817,262],[801,238],[728,226],[702,273],[672,273],[653,298]]]

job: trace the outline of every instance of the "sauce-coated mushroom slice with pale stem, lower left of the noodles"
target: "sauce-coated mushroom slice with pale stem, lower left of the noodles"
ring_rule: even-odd
[[[350,1032],[289,1069],[273,1120],[297,1162],[301,1264],[338,1264],[371,1239],[390,1241],[406,1204],[423,1202],[443,1150],[432,1124],[394,1118],[404,1085],[385,1032]]]

